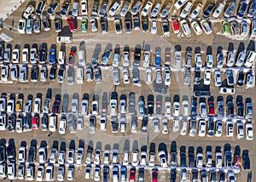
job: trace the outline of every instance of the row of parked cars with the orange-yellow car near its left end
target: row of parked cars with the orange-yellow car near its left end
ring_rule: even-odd
[[[114,94],[114,92],[112,93]],[[71,108],[68,105],[71,103]],[[52,104],[51,104],[52,103]],[[51,108],[52,106],[52,108]],[[198,108],[199,107],[199,112]],[[226,111],[224,111],[226,109]],[[233,98],[229,95],[227,97],[226,103],[224,104],[223,97],[219,96],[217,103],[214,102],[212,98],[200,99],[198,100],[193,97],[191,102],[189,100],[183,100],[182,105],[180,105],[179,100],[174,100],[171,102],[170,97],[166,97],[163,101],[160,95],[157,95],[154,99],[154,95],[149,94],[146,98],[144,96],[139,96],[136,99],[135,93],[131,92],[129,97],[126,98],[125,94],[117,97],[111,97],[108,100],[108,94],[104,93],[102,95],[102,102],[95,97],[93,100],[89,98],[83,98],[81,102],[79,98],[73,96],[72,100],[69,100],[68,94],[64,94],[61,99],[61,95],[56,95],[55,101],[49,97],[43,98],[38,96],[35,99],[32,95],[28,95],[25,101],[24,96],[18,95],[16,99],[15,94],[10,94],[9,99],[7,94],[2,94],[0,98],[0,111],[2,113],[15,114],[16,112],[24,113],[53,113],[58,115],[59,113],[72,113],[74,115],[82,114],[93,116],[102,115],[104,117],[110,115],[112,117],[118,116],[119,114],[129,113],[131,115],[137,114],[139,117],[147,115],[148,117],[158,116],[158,117],[238,117],[253,118],[253,104],[252,101],[247,99],[245,104],[242,100],[236,100],[234,104]],[[189,113],[190,112],[190,113]]]

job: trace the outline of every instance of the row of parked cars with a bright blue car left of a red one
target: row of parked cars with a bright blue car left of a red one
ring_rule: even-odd
[[[112,63],[113,67],[118,67],[123,65],[124,67],[129,67],[130,65],[148,67],[149,65],[154,65],[155,67],[161,67],[163,65],[172,65],[174,67],[181,67],[182,62],[184,60],[184,65],[191,66],[193,65],[193,60],[195,60],[195,67],[204,67],[212,68],[223,68],[224,65],[227,67],[241,67],[245,66],[247,68],[252,67],[255,64],[256,53],[253,50],[242,50],[239,53],[235,53],[235,51],[228,51],[226,54],[224,51],[218,52],[216,55],[216,64],[213,54],[207,54],[206,57],[202,56],[201,52],[196,52],[193,54],[192,51],[186,51],[185,56],[183,58],[181,51],[174,51],[174,55],[172,55],[171,48],[166,48],[163,53],[156,48],[155,52],[152,53],[148,49],[143,49],[139,45],[135,46],[133,59],[131,58],[132,52],[124,48],[124,51],[120,53],[117,50],[112,50],[106,48],[104,53],[101,56],[100,54],[93,55],[90,62],[90,65],[110,65]],[[49,57],[48,57],[49,56]],[[152,63],[154,56],[154,63]],[[172,63],[172,56],[174,56]],[[68,59],[67,59],[68,57]],[[18,64],[18,63],[32,63],[32,64],[59,64],[59,65],[85,65],[85,51],[83,49],[79,49],[78,52],[74,52],[73,50],[70,53],[66,54],[65,51],[59,50],[57,51],[55,48],[49,48],[49,53],[46,48],[22,48],[20,53],[20,48],[14,48],[13,50],[9,47],[3,48],[0,47],[0,63],[3,64]],[[164,57],[164,58],[162,58]],[[49,61],[48,61],[49,60]],[[130,63],[132,61],[132,64]],[[164,61],[163,61],[164,60]],[[206,60],[206,61],[204,61]],[[101,64],[100,64],[101,62]],[[141,63],[143,62],[143,63]]]

